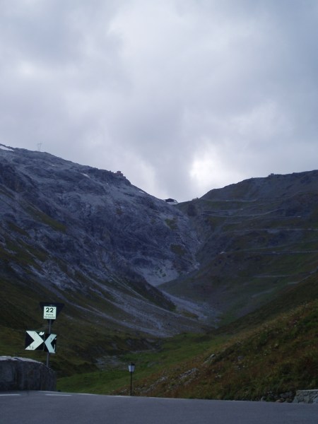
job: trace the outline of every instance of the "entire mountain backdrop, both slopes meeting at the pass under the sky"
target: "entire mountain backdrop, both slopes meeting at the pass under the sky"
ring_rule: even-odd
[[[53,361],[66,374],[270,304],[317,276],[317,177],[177,204],[122,172],[0,145],[0,354],[26,355],[25,330],[46,325],[39,302],[65,305]]]

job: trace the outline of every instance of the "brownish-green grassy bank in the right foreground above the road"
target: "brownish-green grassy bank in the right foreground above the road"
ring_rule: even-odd
[[[136,393],[200,399],[273,401],[318,386],[318,302],[211,346],[199,356],[143,379]],[[218,337],[216,337],[218,340]],[[149,389],[151,387],[151,389]]]

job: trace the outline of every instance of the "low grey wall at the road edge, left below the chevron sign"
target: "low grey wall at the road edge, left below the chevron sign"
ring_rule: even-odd
[[[56,387],[55,372],[37,360],[0,356],[0,391],[54,391]]]

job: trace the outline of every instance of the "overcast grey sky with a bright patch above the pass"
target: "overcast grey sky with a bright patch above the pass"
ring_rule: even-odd
[[[317,0],[0,0],[0,143],[187,201],[317,169]]]

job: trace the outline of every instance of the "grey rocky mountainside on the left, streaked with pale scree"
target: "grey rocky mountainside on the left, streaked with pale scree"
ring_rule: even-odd
[[[6,146],[0,195],[8,310],[19,286],[21,295],[28,291],[25,303],[42,293],[42,301],[66,302],[107,328],[157,336],[198,329],[178,311],[189,316],[196,305],[172,302],[155,287],[198,266],[196,232],[175,207],[121,173]]]

